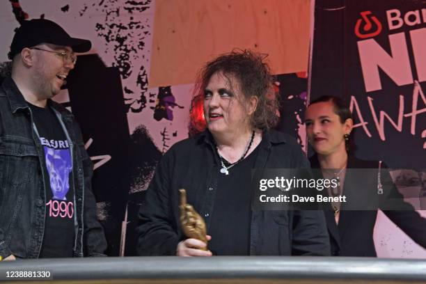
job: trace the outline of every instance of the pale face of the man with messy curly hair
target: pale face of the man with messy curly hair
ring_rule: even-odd
[[[228,79],[232,81],[232,90]],[[204,116],[210,132],[235,133],[249,127],[250,113],[244,102],[246,98],[237,79],[214,73],[204,90]]]

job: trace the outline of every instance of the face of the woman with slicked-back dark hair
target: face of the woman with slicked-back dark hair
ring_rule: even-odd
[[[352,119],[342,123],[332,102],[311,104],[305,112],[305,125],[309,143],[319,155],[346,151],[344,136],[352,130]]]

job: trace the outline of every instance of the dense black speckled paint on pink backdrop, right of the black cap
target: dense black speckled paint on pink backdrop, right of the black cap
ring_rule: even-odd
[[[138,66],[134,62],[140,62],[141,58],[148,64],[148,59],[141,56],[146,47],[145,40],[150,36],[150,24],[148,17],[138,17],[140,13],[148,10],[152,0],[145,1],[121,1],[102,0],[94,9],[97,13],[105,15],[104,21],[95,24],[97,36],[106,42],[109,52],[112,49],[113,66],[120,70],[123,80],[131,79],[133,72],[138,72],[136,81],[123,81],[125,90],[125,104],[127,111],[139,113],[146,107],[145,93],[148,90],[148,74],[145,66]],[[88,10],[85,4],[80,15]],[[129,15],[129,17],[127,17]]]

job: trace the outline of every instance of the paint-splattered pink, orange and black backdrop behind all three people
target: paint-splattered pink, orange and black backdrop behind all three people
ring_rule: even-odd
[[[359,113],[363,114],[363,121],[368,123],[364,126],[372,136],[363,137],[366,135],[365,130],[358,127],[361,131],[358,131],[360,136],[356,139],[360,141],[361,153],[370,158],[384,155],[389,164],[395,161],[394,164],[390,164],[394,166],[400,161],[399,157],[402,156],[400,152],[393,152],[388,157],[388,154],[383,152],[384,148],[377,147],[376,150],[370,149],[377,155],[370,155],[371,152],[365,152],[363,147],[365,139],[376,139],[379,143],[390,141],[406,143],[405,140],[397,141],[399,138],[395,138],[395,135],[407,136],[417,139],[417,142],[409,146],[400,144],[397,150],[405,148],[417,151],[412,157],[416,158],[420,163],[417,165],[421,166],[420,155],[422,153],[424,155],[425,152],[420,151],[423,144],[418,140],[421,139],[421,132],[425,128],[422,127],[422,123],[425,125],[425,113],[421,112],[424,97],[420,97],[420,88],[418,89],[420,107],[416,116],[406,116],[413,113],[411,102],[415,86],[413,82],[407,81],[407,77],[403,78],[407,84],[398,86],[400,92],[397,95],[388,93],[388,89],[385,88],[365,92],[363,77],[356,73],[358,71],[354,71],[353,74],[345,73],[349,72],[349,66],[343,64],[347,60],[352,60],[356,65],[359,56],[356,54],[352,58],[347,56],[354,53],[353,50],[358,50],[356,42],[365,40],[353,36],[356,22],[354,24],[347,22],[345,26],[345,21],[342,20],[348,10],[344,10],[342,14],[339,7],[347,6],[349,3],[339,1],[334,5],[332,0],[321,2],[317,1],[318,6],[315,9],[311,98],[323,93],[349,97],[349,93],[346,92],[349,90],[347,84],[353,83],[356,88],[352,89],[353,93],[350,95],[356,97],[354,105],[356,102],[360,109]],[[361,1],[347,2],[362,4]],[[401,3],[404,3],[404,9],[407,10],[406,3],[424,6],[418,4],[420,2]],[[330,3],[331,6],[328,6]],[[402,6],[399,1],[395,3],[397,5],[393,8]],[[155,166],[164,152],[173,143],[187,138],[194,87],[190,82],[191,79],[195,79],[196,70],[210,58],[223,52],[230,52],[234,47],[269,54],[267,60],[273,72],[277,74],[276,95],[281,97],[282,101],[281,122],[277,128],[296,137],[301,147],[306,150],[303,117],[308,97],[306,69],[311,4],[313,2],[309,0],[0,1],[2,36],[0,62],[8,61],[6,54],[13,38],[13,31],[23,19],[40,17],[52,19],[61,24],[71,36],[88,38],[93,44],[88,54],[78,56],[76,67],[67,78],[66,88],[54,97],[54,100],[68,107],[81,126],[86,149],[95,167],[93,191],[97,198],[97,217],[107,235],[109,255],[136,254],[134,228],[136,213],[139,207],[143,206],[141,204],[143,192],[148,187]],[[377,6],[374,3],[371,5]],[[339,9],[336,10],[336,7]],[[364,19],[360,13],[368,9],[354,10],[351,19],[354,21],[358,18]],[[385,25],[383,7],[377,8],[377,11],[374,9],[372,13],[378,17],[382,25]],[[403,11],[405,13],[404,9],[400,9],[401,13]],[[424,23],[425,12],[421,13]],[[370,19],[371,15],[365,17]],[[403,29],[404,31],[419,29],[422,25],[424,26],[424,24],[411,26],[404,24],[395,29],[395,33],[402,32]],[[388,42],[385,35],[386,26],[383,26],[383,29],[372,39],[378,42],[380,40],[378,45],[393,57],[395,55],[389,49],[389,43],[386,43]],[[342,42],[347,42],[345,46],[349,47],[349,41],[345,41],[347,38],[343,36],[344,34],[353,38],[350,44],[353,45],[353,50],[350,49],[350,52],[342,46]],[[423,69],[422,73],[423,79],[420,79],[414,70],[417,72],[422,70],[415,62],[423,62],[423,68],[425,67],[425,55],[424,53],[422,55],[422,50],[419,50],[421,47],[418,47],[417,61],[414,61],[412,55],[414,49],[407,39],[411,35],[409,32],[404,32],[404,35],[409,45],[407,48],[413,81],[419,81],[422,86],[425,70]],[[414,33],[413,37],[421,41],[419,32]],[[317,55],[319,51],[321,55]],[[380,64],[380,68],[391,69],[383,67],[384,63]],[[322,66],[322,72],[318,72],[318,66]],[[343,66],[345,72],[342,71]],[[368,72],[374,73],[373,67],[370,66]],[[8,64],[1,64],[0,75],[7,72]],[[382,74],[382,71],[377,72],[381,78],[381,86],[388,86],[392,82]],[[392,78],[395,79],[395,76],[396,74]],[[354,79],[356,81],[351,83]],[[384,95],[377,92],[383,92]],[[398,111],[393,113],[393,109],[397,109],[399,105],[398,95],[404,96],[402,131],[399,132],[389,125],[386,115],[383,115],[382,119],[386,122],[385,139],[382,141],[379,136],[381,132],[375,130],[374,125],[377,124],[368,113],[370,110],[368,97],[374,99],[376,111],[386,111],[397,123]],[[378,113],[377,116],[380,121],[381,115]],[[412,118],[416,121],[416,133],[413,135],[410,133],[409,124]],[[373,145],[370,143],[372,140],[366,141],[368,145]],[[404,155],[409,155],[408,150],[404,150]],[[388,232],[386,235],[375,237],[376,246],[387,250],[379,249],[379,256],[426,258],[426,253],[422,254],[422,248],[413,244],[401,232],[397,232],[392,225],[377,223],[377,228]]]

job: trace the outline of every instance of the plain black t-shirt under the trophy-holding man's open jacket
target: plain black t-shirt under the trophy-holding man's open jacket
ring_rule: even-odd
[[[207,235],[212,236],[208,247],[214,255],[250,254],[251,169],[257,156],[258,148],[255,148],[248,157],[228,170],[229,175],[219,173],[207,231]]]

